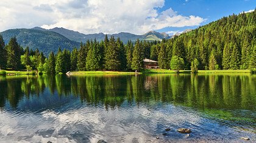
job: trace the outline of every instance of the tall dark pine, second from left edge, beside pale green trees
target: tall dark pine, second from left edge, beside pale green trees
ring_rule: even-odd
[[[18,70],[21,65],[21,49],[16,38],[11,38],[7,45],[7,67]]]

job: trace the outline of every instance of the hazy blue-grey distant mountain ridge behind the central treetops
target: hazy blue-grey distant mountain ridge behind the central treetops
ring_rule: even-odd
[[[63,36],[65,36],[66,38],[73,40],[73,41],[77,41],[77,42],[86,42],[87,40],[91,40],[96,38],[97,41],[101,41],[104,40],[105,35],[104,33],[95,33],[95,34],[82,34],[79,32],[75,32],[73,30],[68,30],[65,28],[52,28],[49,30],[46,30],[44,28],[40,28],[40,27],[34,27],[32,29],[37,29],[37,30],[42,30],[42,31],[51,31],[51,32],[57,32]],[[162,41],[163,38],[165,39],[169,39],[171,38],[169,35],[167,35],[166,33],[159,33],[159,32],[154,32],[154,31],[150,31],[145,33],[144,35],[134,35],[132,33],[127,33],[127,32],[121,32],[121,33],[117,33],[117,34],[113,34],[113,35],[107,35],[108,38],[110,38],[110,36],[114,36],[115,38],[120,38],[121,41],[123,41],[125,44],[127,43],[128,40],[131,41],[136,41],[136,39],[141,39],[141,40],[147,40],[147,41]]]

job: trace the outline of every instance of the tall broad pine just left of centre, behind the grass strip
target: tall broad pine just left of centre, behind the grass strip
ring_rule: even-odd
[[[105,55],[105,68],[107,70],[118,70],[118,67],[121,64],[118,58],[118,47],[115,38],[112,36],[108,42]]]

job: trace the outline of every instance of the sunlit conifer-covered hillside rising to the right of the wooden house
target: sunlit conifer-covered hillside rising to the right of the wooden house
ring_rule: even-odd
[[[205,70],[250,68],[256,60],[256,12],[221,18],[160,45],[162,68],[169,68],[174,55],[184,59],[187,69],[194,59]]]

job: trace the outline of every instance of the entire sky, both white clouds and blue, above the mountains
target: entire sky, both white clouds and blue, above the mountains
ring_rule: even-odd
[[[256,0],[1,0],[0,32],[63,27],[84,34],[172,35],[255,7]]]

